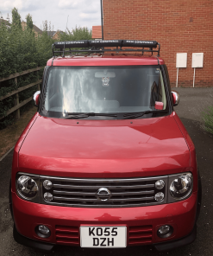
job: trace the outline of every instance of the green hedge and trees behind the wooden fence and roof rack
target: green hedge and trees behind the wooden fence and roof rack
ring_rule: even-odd
[[[18,10],[12,10],[12,26],[9,28],[4,22],[0,25],[0,77],[8,77],[10,74],[34,68],[44,67],[47,60],[52,58],[53,39],[47,35],[47,21],[43,22],[43,33],[35,35],[32,33],[34,27],[32,16],[26,17],[27,29],[22,30],[21,16]],[[51,24],[49,25],[51,27]],[[77,28],[62,33],[60,40],[86,40],[91,39],[91,31],[86,28]],[[26,86],[42,77],[42,70],[22,75],[17,78],[17,84],[14,79],[0,82],[0,97],[16,90],[19,87]],[[37,86],[28,88],[19,93],[19,102],[33,96],[37,91]],[[0,100],[0,117],[4,116],[10,108],[15,105],[16,95]],[[30,105],[30,104],[29,104]],[[22,106],[21,112],[24,108]],[[15,112],[0,120],[0,129],[14,121]]]

